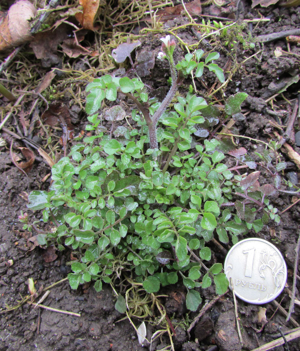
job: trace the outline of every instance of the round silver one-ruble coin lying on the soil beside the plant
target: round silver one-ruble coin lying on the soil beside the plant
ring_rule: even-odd
[[[280,251],[266,240],[244,239],[229,250],[224,272],[240,299],[252,304],[274,300],[283,290],[287,267]]]

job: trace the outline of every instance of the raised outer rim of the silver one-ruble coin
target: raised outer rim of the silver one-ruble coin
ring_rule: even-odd
[[[241,243],[243,243],[244,241],[250,241],[250,240],[254,240],[254,241],[261,241],[263,243],[267,243],[269,246],[273,247],[273,249],[281,256],[282,258],[282,261],[283,261],[283,266],[284,266],[284,274],[285,274],[285,278],[283,280],[283,283],[281,285],[281,288],[280,290],[277,292],[276,295],[272,296],[272,298],[270,299],[267,299],[267,300],[262,300],[262,301],[251,301],[251,300],[247,300],[247,298],[244,298],[243,296],[241,296],[239,293],[237,293],[236,291],[234,291],[234,294],[235,296],[237,296],[238,298],[240,298],[241,300],[245,301],[245,302],[248,302],[250,304],[255,304],[255,305],[263,305],[263,304],[266,304],[266,303],[269,303],[273,300],[276,299],[276,297],[278,297],[282,290],[284,289],[285,287],[285,284],[286,284],[286,280],[287,280],[287,266],[286,266],[286,263],[285,263],[285,259],[282,255],[282,253],[277,249],[277,247],[275,245],[273,245],[272,243],[270,243],[269,241],[265,240],[265,239],[260,239],[260,238],[247,238],[247,239],[243,239],[241,241],[239,241],[238,243],[234,244],[233,247],[231,247],[231,249],[228,251],[227,255],[226,255],[226,258],[225,258],[225,261],[224,261],[224,272],[226,272],[226,266],[227,266],[227,261],[228,261],[228,258],[230,256],[230,253],[231,251],[233,251],[237,246],[239,246]],[[226,274],[226,273],[225,273]],[[227,275],[226,275],[226,278],[228,279]],[[230,283],[229,283],[229,289],[232,291],[232,288],[230,286]]]

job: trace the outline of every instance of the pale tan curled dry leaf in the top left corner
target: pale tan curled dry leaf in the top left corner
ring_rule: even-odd
[[[17,1],[9,8],[0,25],[0,51],[9,50],[32,38],[28,21],[36,13],[36,8],[28,0]]]

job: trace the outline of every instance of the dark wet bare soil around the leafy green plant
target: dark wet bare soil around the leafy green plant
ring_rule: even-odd
[[[241,1],[242,2],[242,1]],[[240,1],[239,1],[240,3]],[[204,7],[203,13],[221,17],[236,15],[236,5],[227,6],[226,11],[220,10],[215,5]],[[260,18],[260,14],[269,18],[268,22],[250,22],[243,28],[245,42],[252,36],[261,34],[295,29],[300,23],[300,7],[283,8],[270,6],[267,8],[250,7],[249,2],[244,2],[238,7],[239,20]],[[242,10],[241,10],[242,9]],[[206,17],[204,17],[207,19]],[[178,23],[186,22],[186,19],[178,19]],[[174,24],[176,20],[172,22]],[[170,23],[169,23],[170,24]],[[251,35],[250,35],[251,33]],[[184,41],[197,42],[195,35],[185,29],[178,32]],[[154,50],[154,37],[149,35],[143,48]],[[216,37],[217,40],[218,37]],[[221,39],[222,40],[222,39]],[[247,102],[243,106],[243,113],[247,115],[246,120],[236,124],[236,130],[241,135],[260,140],[269,140],[276,130],[282,133],[276,125],[285,124],[285,118],[291,113],[291,105],[298,98],[299,82],[286,88],[283,95],[279,94],[274,100],[274,110],[279,111],[277,115],[272,113],[272,108],[266,102],[268,98],[276,94],[276,85],[286,81],[291,76],[299,74],[300,47],[296,43],[290,43],[291,54],[283,54],[275,58],[274,50],[281,47],[288,51],[285,38],[257,44],[255,49],[243,46],[243,38],[240,37],[231,50],[224,46],[224,43],[216,41],[213,49],[221,54],[222,64],[225,67],[230,59],[232,69],[236,67],[236,73],[226,88],[226,95],[234,94],[237,91],[249,94]],[[154,46],[153,46],[154,45]],[[246,62],[245,59],[251,57]],[[182,56],[177,48],[176,55]],[[157,65],[157,63],[156,63]],[[229,68],[228,68],[229,71]],[[168,68],[159,63],[153,70],[152,75],[145,78],[147,84],[157,88],[166,84]],[[197,88],[200,93],[207,95],[207,86],[212,86],[214,78],[212,75],[205,77],[204,81],[197,81]],[[11,119],[12,120],[12,119]],[[13,121],[12,121],[13,123]],[[8,124],[6,124],[8,126]],[[78,127],[80,130],[82,126]],[[295,132],[299,130],[299,120],[294,124]],[[251,152],[257,151],[259,144],[240,140],[241,146]],[[296,152],[299,147],[293,145]],[[133,351],[147,349],[139,345],[137,335],[128,320],[118,322],[123,315],[115,310],[115,297],[109,286],[104,286],[103,291],[97,293],[92,287],[79,287],[77,291],[71,290],[67,280],[51,287],[50,294],[45,300],[45,305],[55,309],[79,313],[79,316],[63,314],[45,309],[34,309],[28,303],[12,311],[7,311],[18,305],[28,294],[27,280],[33,278],[37,289],[50,286],[66,277],[69,272],[65,265],[71,260],[71,252],[58,252],[58,257],[47,263],[45,251],[36,247],[32,248],[30,233],[22,230],[22,224],[18,221],[20,211],[26,210],[26,194],[32,190],[47,189],[49,179],[43,178],[50,172],[50,168],[43,162],[35,161],[34,167],[28,176],[20,173],[13,165],[9,150],[1,147],[0,153],[0,351],[26,350],[26,351],[52,351],[52,350],[120,350]],[[254,153],[253,153],[254,155]],[[299,178],[299,168],[288,155],[283,153],[288,162],[287,172],[295,172]],[[286,177],[286,175],[283,175]],[[263,183],[262,183],[263,184]],[[272,203],[283,211],[292,204],[292,195],[279,193],[273,196]],[[27,211],[28,212],[28,211]],[[33,217],[33,214],[30,213]],[[40,214],[35,213],[37,218]],[[299,235],[300,211],[299,206],[293,206],[281,215],[280,224],[270,223],[259,234],[251,233],[262,239],[275,244],[285,257],[288,266],[287,289],[276,299],[283,309],[288,310],[290,297],[288,291],[292,290],[292,279],[294,273],[295,245]],[[224,248],[229,250],[230,245]],[[213,246],[215,260],[222,262],[224,253],[217,246]],[[298,273],[299,274],[299,273]],[[297,283],[299,289],[299,283]],[[294,322],[286,322],[286,315],[274,303],[268,303],[266,308],[267,323],[262,327],[258,322],[257,311],[259,306],[237,302],[237,310],[240,318],[243,345],[237,334],[236,320],[234,313],[234,301],[232,293],[229,292],[217,302],[212,304],[210,309],[198,320],[190,335],[186,329],[193,321],[197,313],[185,314],[184,289],[178,283],[172,290],[165,291],[168,298],[163,301],[169,315],[173,317],[172,323],[176,327],[176,336],[173,337],[175,350],[178,351],[199,351],[199,350],[220,350],[240,351],[253,350],[260,345],[280,337],[279,329],[286,332],[299,324],[299,305],[295,305],[293,313]],[[299,296],[296,290],[296,297]],[[215,298],[214,289],[203,290],[203,304],[200,309]],[[154,315],[156,311],[154,311]],[[141,321],[134,320],[138,326]],[[149,331],[155,332],[157,327],[147,326]],[[300,350],[300,339],[288,343],[290,351]],[[170,350],[167,336],[158,338],[151,350]],[[167,347],[167,348],[166,348]],[[148,347],[148,349],[150,349]],[[284,350],[279,346],[276,350]]]

